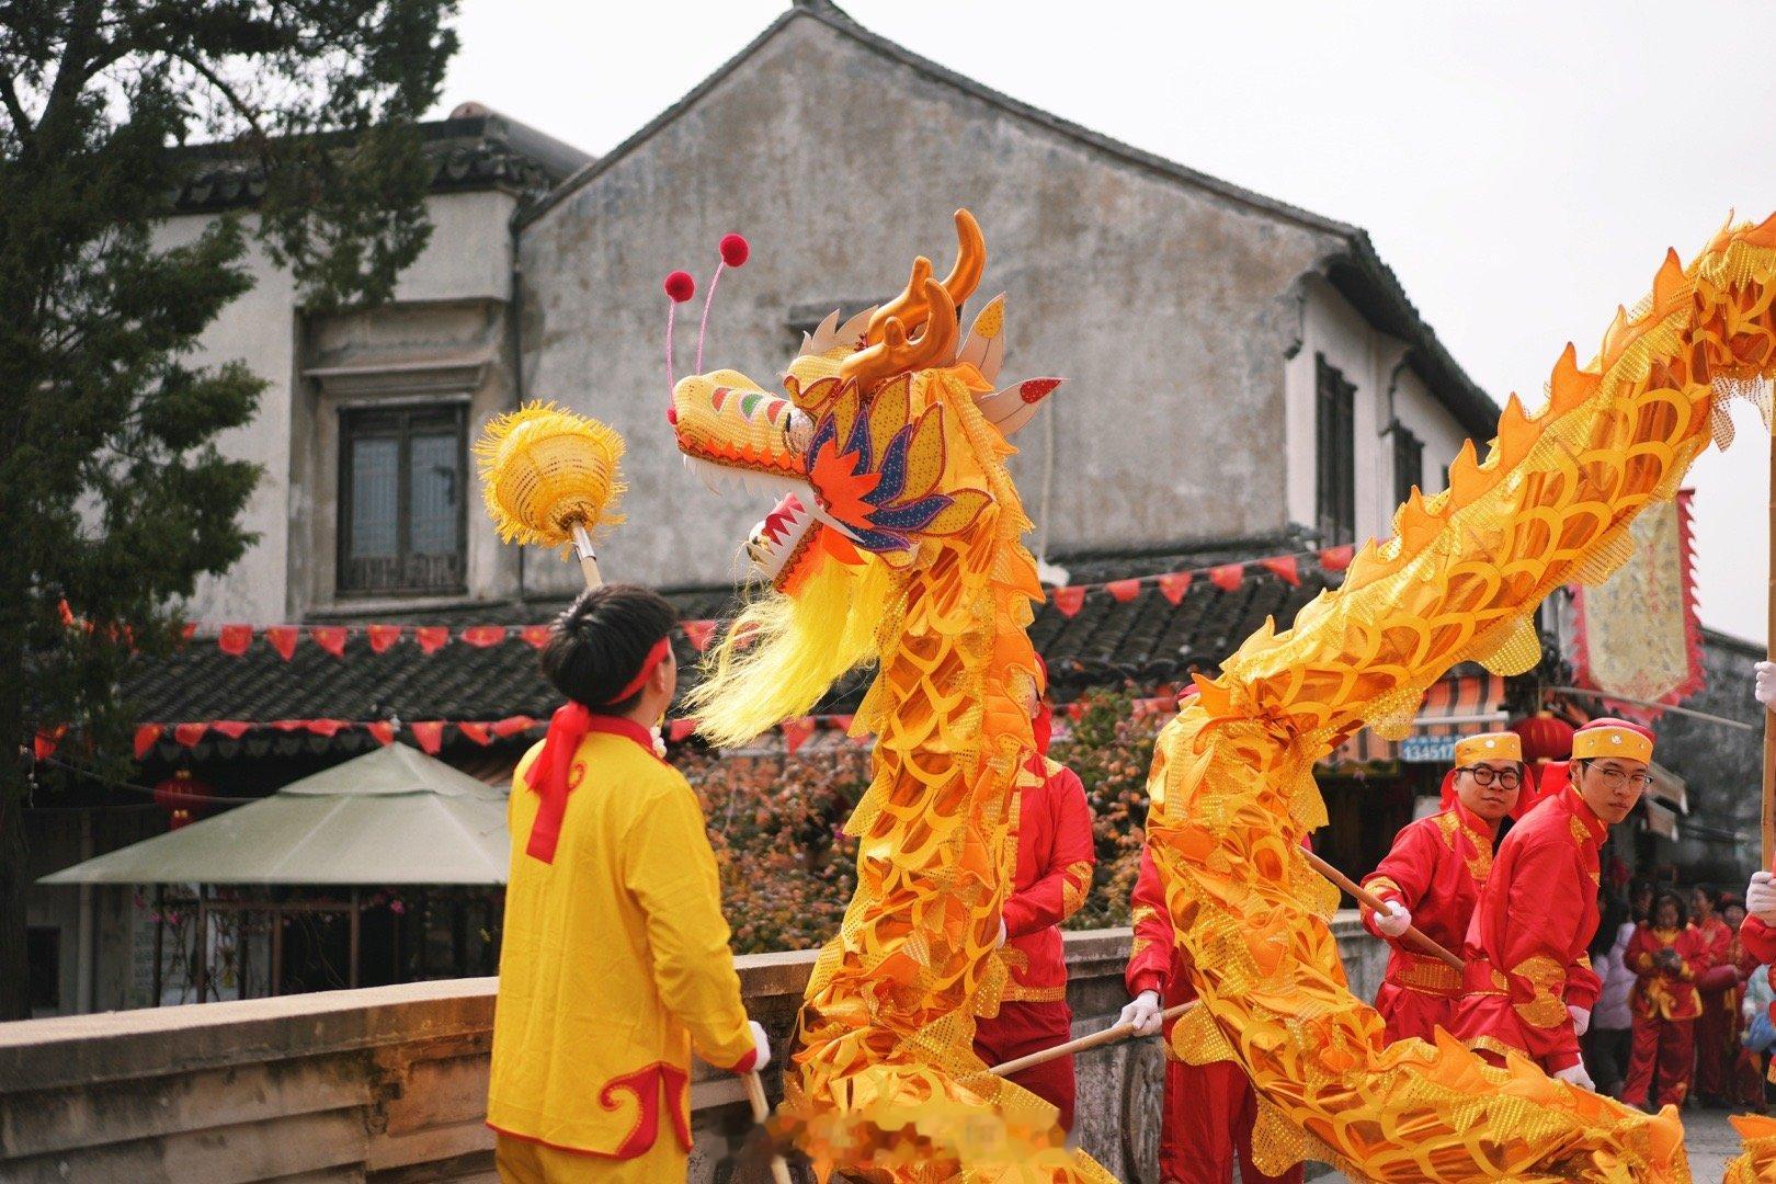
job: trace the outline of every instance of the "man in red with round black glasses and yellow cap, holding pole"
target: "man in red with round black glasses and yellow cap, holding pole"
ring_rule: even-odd
[[[1442,811],[1401,827],[1392,850],[1364,877],[1362,886],[1387,904],[1382,914],[1364,905],[1362,923],[1392,946],[1375,992],[1389,1044],[1407,1037],[1430,1042],[1437,1028],[1449,1030],[1462,973],[1399,937],[1417,925],[1446,950],[1462,946],[1492,872],[1499,820],[1517,806],[1522,785],[1524,746],[1515,731],[1458,740]]]

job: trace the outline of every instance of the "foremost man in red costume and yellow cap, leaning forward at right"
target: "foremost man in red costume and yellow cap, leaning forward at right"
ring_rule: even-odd
[[[1652,758],[1652,731],[1593,719],[1574,733],[1570,785],[1545,785],[1499,845],[1467,927],[1467,994],[1453,1028],[1488,1060],[1504,1063],[1515,1049],[1561,1081],[1597,1088],[1579,1058],[1600,989],[1586,955],[1598,920],[1597,850],[1646,792]]]

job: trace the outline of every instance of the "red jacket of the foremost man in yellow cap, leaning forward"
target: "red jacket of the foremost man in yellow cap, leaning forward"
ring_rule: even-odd
[[[1456,1037],[1476,1049],[1527,1053],[1547,1072],[1579,1063],[1566,1006],[1590,1010],[1602,989],[1586,946],[1597,934],[1597,850],[1607,833],[1566,786],[1504,836],[1467,927]]]

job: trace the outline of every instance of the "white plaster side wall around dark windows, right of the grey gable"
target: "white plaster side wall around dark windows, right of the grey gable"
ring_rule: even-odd
[[[1378,332],[1344,298],[1320,279],[1309,279],[1302,304],[1302,348],[1284,369],[1288,407],[1288,499],[1289,520],[1314,525],[1314,359],[1339,369],[1357,387],[1355,458],[1357,458],[1357,541],[1392,534],[1394,444],[1382,431],[1389,422],[1389,385],[1392,414],[1424,442],[1424,492],[1435,493],[1447,483],[1447,467],[1462,447],[1465,433],[1410,369],[1398,369],[1405,344]]]

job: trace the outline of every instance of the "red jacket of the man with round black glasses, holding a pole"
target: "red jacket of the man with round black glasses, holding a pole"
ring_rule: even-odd
[[[1444,950],[1460,950],[1467,923],[1474,916],[1479,889],[1492,873],[1492,827],[1462,802],[1401,827],[1394,849],[1362,879],[1362,886],[1382,900],[1396,900],[1412,912],[1412,925]],[[1362,909],[1364,927],[1375,927],[1375,912]],[[1385,937],[1384,937],[1385,939]],[[1417,946],[1385,939],[1392,946],[1385,982],[1417,994],[1458,999],[1462,973]],[[1426,1040],[1430,1033],[1423,1035]]]

